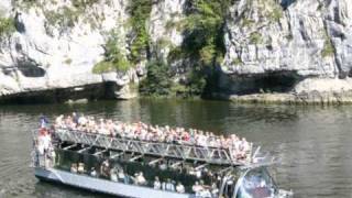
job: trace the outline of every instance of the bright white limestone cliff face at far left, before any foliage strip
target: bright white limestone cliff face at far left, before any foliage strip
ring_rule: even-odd
[[[102,59],[106,33],[119,29],[124,34],[122,25],[128,18],[124,1],[95,3],[77,15],[73,24],[55,21],[59,16],[73,20],[65,12],[66,8],[75,10],[70,1],[53,2],[22,8],[10,0],[1,1],[3,13],[14,18],[16,32],[1,43],[0,96],[107,80],[103,75],[92,74],[92,67]],[[113,77],[108,81],[122,79],[117,73],[110,76]]]

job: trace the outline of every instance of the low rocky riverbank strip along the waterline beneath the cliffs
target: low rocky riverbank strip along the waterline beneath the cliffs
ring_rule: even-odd
[[[77,91],[77,90],[76,90]],[[237,103],[273,103],[273,105],[352,105],[352,91],[343,92],[288,92],[288,94],[251,94],[251,95],[224,95],[212,94],[210,98],[194,97],[161,97],[139,96],[131,94],[130,98],[113,98],[107,94],[106,87],[89,86],[85,91],[75,92],[75,89],[59,89],[35,92],[23,92],[0,98],[0,105],[7,103],[81,103],[81,101],[95,100],[130,100],[135,98],[145,99],[193,99],[193,100],[226,100]]]

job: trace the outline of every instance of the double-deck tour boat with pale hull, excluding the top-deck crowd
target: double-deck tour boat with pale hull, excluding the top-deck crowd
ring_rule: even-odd
[[[33,165],[40,180],[134,198],[293,197],[276,186],[267,170],[272,162],[257,160],[258,150],[250,161],[239,161],[227,148],[59,128],[51,131],[52,148],[43,153],[38,136]]]

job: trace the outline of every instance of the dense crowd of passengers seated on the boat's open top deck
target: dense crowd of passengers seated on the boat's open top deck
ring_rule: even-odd
[[[124,123],[111,119],[96,120],[94,117],[86,117],[75,112],[72,116],[64,117],[62,114],[57,117],[55,128],[141,141],[228,148],[231,151],[231,157],[235,160],[249,160],[249,154],[252,150],[252,143],[249,143],[244,138],[240,139],[235,134],[224,136],[196,129],[158,127],[143,122]]]

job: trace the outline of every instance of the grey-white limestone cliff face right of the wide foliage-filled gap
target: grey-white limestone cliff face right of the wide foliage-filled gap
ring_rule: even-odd
[[[344,80],[352,68],[351,3],[350,0],[237,1],[227,20],[222,70],[228,79],[221,86],[237,94],[239,89],[233,85],[239,84],[239,76],[250,76],[246,80],[251,81],[253,76],[257,79],[283,74],[297,78],[289,86],[294,91],[302,91],[302,87],[307,91],[317,90],[317,86],[329,91],[341,84],[352,89]]]

